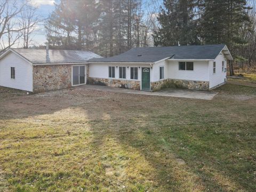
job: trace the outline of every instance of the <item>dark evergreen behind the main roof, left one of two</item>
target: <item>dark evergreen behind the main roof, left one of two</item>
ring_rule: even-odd
[[[154,34],[156,46],[198,44],[196,8],[198,1],[194,0],[164,0],[164,7],[158,15],[161,25]]]

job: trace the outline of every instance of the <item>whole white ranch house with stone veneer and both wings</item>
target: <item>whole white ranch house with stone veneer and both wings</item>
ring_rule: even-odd
[[[212,90],[226,83],[226,45],[140,47],[102,58],[87,51],[9,49],[0,56],[0,86],[29,92],[99,84],[157,91]],[[50,59],[50,60],[49,60]]]

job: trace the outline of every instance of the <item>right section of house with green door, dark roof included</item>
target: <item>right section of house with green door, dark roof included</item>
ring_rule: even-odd
[[[140,47],[89,60],[89,82],[143,91],[164,87],[207,91],[226,83],[228,59],[233,58],[226,45]]]

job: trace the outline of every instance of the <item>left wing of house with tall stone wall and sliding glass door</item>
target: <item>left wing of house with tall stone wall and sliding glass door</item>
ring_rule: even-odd
[[[86,84],[87,60],[100,57],[87,51],[9,49],[0,56],[0,86],[45,92]]]

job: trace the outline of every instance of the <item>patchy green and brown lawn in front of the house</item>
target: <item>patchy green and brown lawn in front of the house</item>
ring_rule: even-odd
[[[0,191],[255,191],[255,87],[215,91],[0,95]]]

